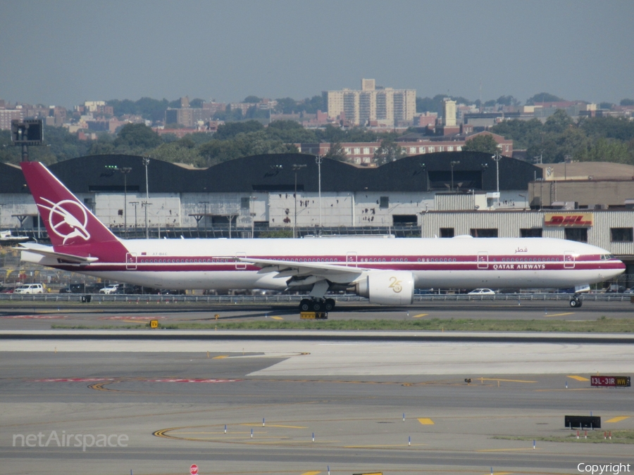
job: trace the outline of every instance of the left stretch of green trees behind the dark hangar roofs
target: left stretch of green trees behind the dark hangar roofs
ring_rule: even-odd
[[[395,152],[396,134],[372,132],[361,127],[341,129],[328,125],[323,129],[304,129],[292,120],[273,121],[264,127],[257,120],[228,122],[218,132],[197,132],[178,139],[174,134],[159,135],[144,124],[126,124],[113,136],[99,134],[97,140],[86,141],[70,134],[63,127],[44,126],[44,146],[30,147],[32,160],[56,163],[69,158],[120,153],[151,156],[172,163],[186,163],[195,167],[209,167],[217,163],[262,153],[297,152],[293,144],[328,142],[328,158],[344,160],[342,142],[384,141],[385,150],[378,154],[400,158]],[[390,155],[391,154],[391,155]],[[19,147],[12,146],[11,132],[0,131],[0,161],[19,163]]]

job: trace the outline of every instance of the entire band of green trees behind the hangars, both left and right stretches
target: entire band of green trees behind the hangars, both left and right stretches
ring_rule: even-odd
[[[634,122],[627,118],[597,117],[573,120],[564,110],[557,110],[540,120],[506,120],[491,132],[514,141],[514,149],[526,149],[528,160],[559,163],[566,160],[607,161],[634,165]],[[290,120],[278,120],[264,127],[257,120],[228,122],[215,134],[193,133],[182,139],[173,134],[160,136],[144,124],[127,124],[116,136],[99,134],[94,141],[80,140],[64,127],[44,127],[46,146],[30,147],[33,160],[56,163],[87,155],[123,153],[151,156],[173,163],[209,167],[225,160],[261,153],[290,153],[293,144],[325,142],[330,144],[328,158],[344,160],[344,142],[380,141],[375,153],[378,165],[402,158],[405,153],[395,141],[397,134],[378,133],[362,127],[342,129],[327,125],[323,129],[304,129]],[[471,139],[465,150],[495,153],[492,137]],[[20,148],[12,146],[11,133],[0,131],[0,161],[19,163]]]

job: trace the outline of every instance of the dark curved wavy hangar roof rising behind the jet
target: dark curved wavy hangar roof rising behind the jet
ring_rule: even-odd
[[[438,152],[409,156],[380,167],[356,167],[324,159],[321,191],[447,191],[452,179],[460,189],[496,189],[495,161],[489,153]],[[297,167],[296,165],[305,165]],[[129,192],[145,192],[143,158],[128,155],[97,155],[73,158],[50,165],[74,193],[123,192],[123,174],[113,167],[130,167],[126,175]],[[297,189],[318,191],[315,157],[302,153],[268,154],[237,158],[205,169],[192,169],[160,160],[148,165],[151,193],[250,193],[293,191],[297,167]],[[27,191],[22,172],[15,165],[0,164],[0,187],[4,193]],[[501,190],[527,189],[528,182],[542,177],[530,163],[502,157],[499,161]]]

